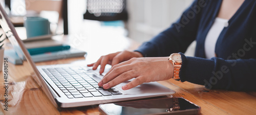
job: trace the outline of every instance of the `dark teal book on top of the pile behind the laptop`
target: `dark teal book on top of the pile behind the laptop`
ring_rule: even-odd
[[[36,54],[43,54],[47,52],[56,52],[56,51],[63,51],[63,50],[69,50],[70,45],[59,45],[54,47],[44,47],[44,48],[34,48],[34,49],[28,49],[30,55],[36,55]]]

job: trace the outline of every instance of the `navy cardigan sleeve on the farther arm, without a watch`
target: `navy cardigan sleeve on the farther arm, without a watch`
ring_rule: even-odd
[[[144,57],[169,56],[172,53],[185,52],[188,45],[196,39],[200,15],[204,1],[194,1],[182,16],[168,29],[144,42],[137,50]]]

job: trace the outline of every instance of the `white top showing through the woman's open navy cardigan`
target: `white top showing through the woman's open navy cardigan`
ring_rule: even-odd
[[[228,27],[228,19],[216,17],[204,42],[205,56],[207,59],[215,57],[215,46],[224,27]]]

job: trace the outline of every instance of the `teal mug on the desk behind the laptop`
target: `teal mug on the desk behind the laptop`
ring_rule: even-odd
[[[50,34],[50,22],[46,18],[26,17],[24,26],[27,31],[27,38]]]

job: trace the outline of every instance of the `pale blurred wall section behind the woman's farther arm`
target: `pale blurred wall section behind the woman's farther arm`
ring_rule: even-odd
[[[193,0],[127,0],[129,37],[144,42],[168,28]]]

